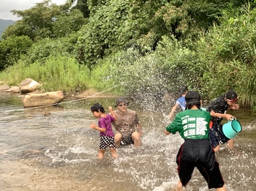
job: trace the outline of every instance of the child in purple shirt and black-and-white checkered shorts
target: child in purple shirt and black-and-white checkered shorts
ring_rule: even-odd
[[[115,150],[115,140],[114,140],[114,132],[112,131],[111,123],[115,121],[115,113],[112,112],[112,107],[108,107],[110,114],[105,114],[105,109],[100,103],[95,103],[91,107],[92,114],[99,119],[98,126],[95,124],[90,124],[91,129],[96,129],[100,131],[100,151],[99,151],[99,159],[103,159],[105,154],[105,149],[107,146],[110,147],[110,152],[113,158],[117,158],[118,154]]]

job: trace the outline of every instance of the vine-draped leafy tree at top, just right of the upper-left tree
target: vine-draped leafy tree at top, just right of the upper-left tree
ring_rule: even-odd
[[[76,57],[79,62],[89,68],[95,65],[97,59],[110,54],[122,47],[133,37],[131,22],[129,22],[128,1],[111,1],[89,17],[89,23],[79,31],[76,44]]]

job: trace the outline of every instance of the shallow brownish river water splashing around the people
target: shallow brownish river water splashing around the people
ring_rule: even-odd
[[[175,190],[178,182],[176,154],[179,134],[166,136],[170,106],[146,111],[131,102],[144,128],[141,148],[118,148],[118,159],[109,150],[97,159],[99,132],[89,129],[97,119],[93,103],[105,108],[115,98],[86,98],[48,108],[23,108],[19,95],[0,93],[1,190]],[[149,106],[147,106],[149,107]],[[226,145],[216,153],[227,190],[256,190],[256,120],[246,110],[231,112],[242,124],[234,150]],[[195,169],[187,190],[208,190]]]

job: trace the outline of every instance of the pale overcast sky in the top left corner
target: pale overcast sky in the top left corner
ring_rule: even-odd
[[[66,0],[51,0],[53,4],[64,4]],[[17,21],[18,18],[10,12],[11,10],[23,11],[25,9],[30,9],[35,6],[36,3],[43,2],[43,0],[0,0],[0,19],[14,20]]]

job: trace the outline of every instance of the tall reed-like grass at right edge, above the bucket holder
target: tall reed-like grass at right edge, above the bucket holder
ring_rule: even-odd
[[[219,25],[213,25],[195,46],[205,73],[201,81],[209,96],[234,89],[239,103],[256,105],[256,9],[250,4],[224,12]]]

